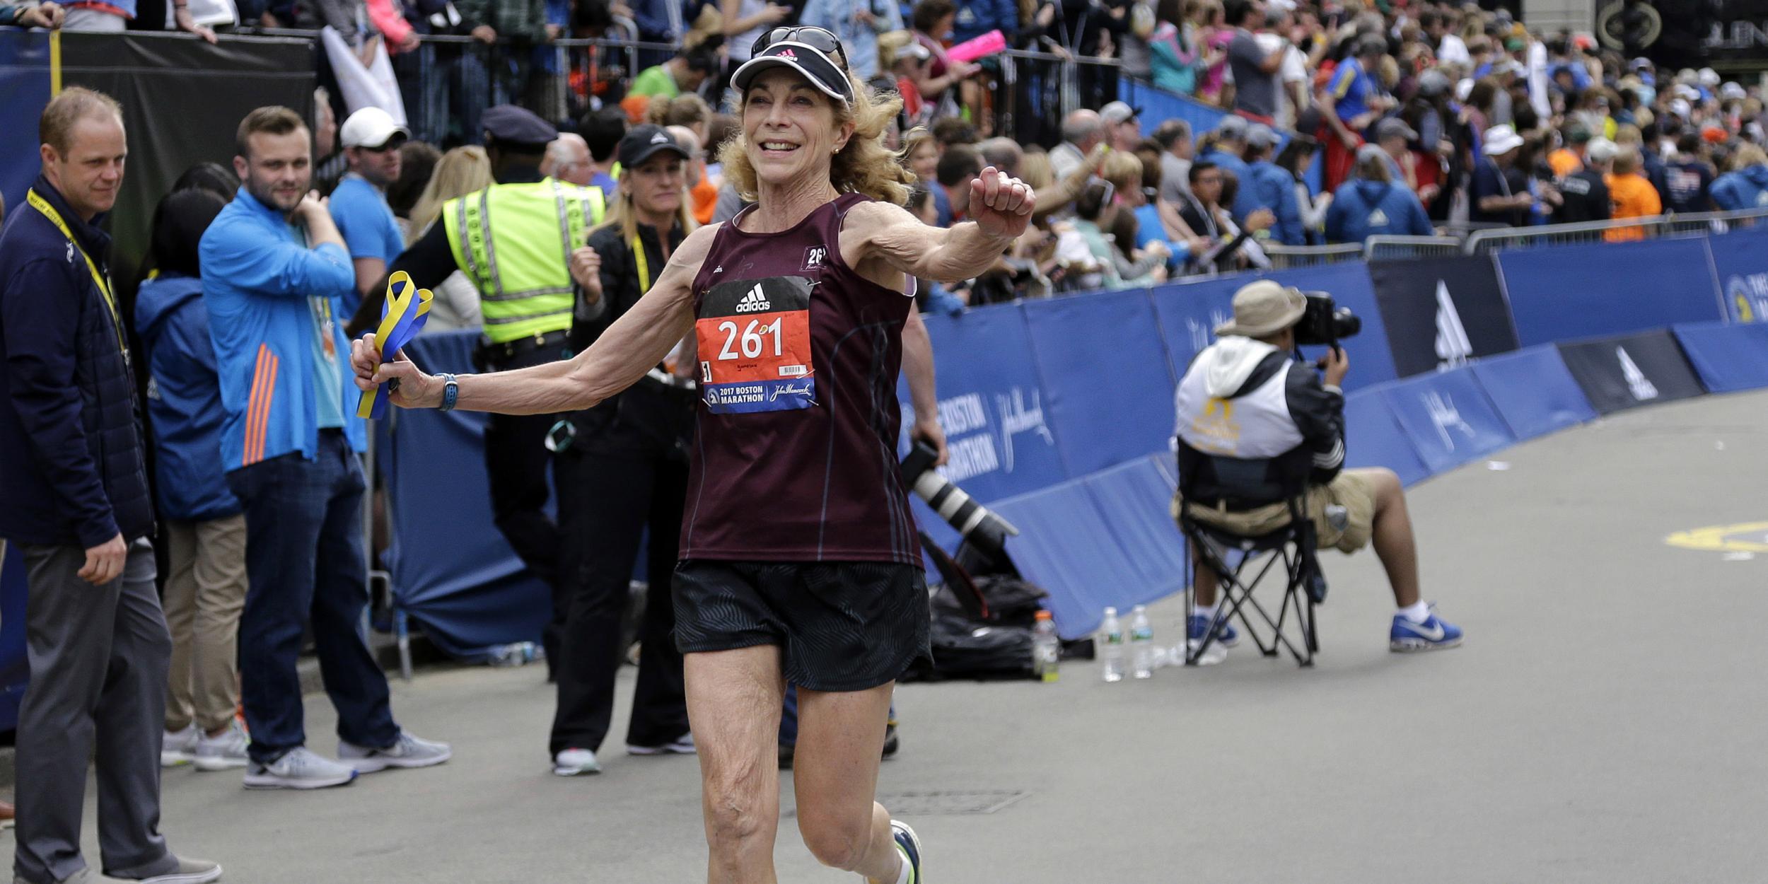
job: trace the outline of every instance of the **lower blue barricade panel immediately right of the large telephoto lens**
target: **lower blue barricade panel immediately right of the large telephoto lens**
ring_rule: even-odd
[[[1018,527],[1006,545],[1018,571],[1050,592],[1050,613],[1063,638],[1091,633],[1137,571],[1078,481],[999,500],[995,509]]]

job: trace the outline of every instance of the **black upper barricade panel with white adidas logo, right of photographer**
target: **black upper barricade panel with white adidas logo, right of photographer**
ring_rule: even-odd
[[[1402,378],[1517,348],[1490,256],[1374,262],[1368,276]]]

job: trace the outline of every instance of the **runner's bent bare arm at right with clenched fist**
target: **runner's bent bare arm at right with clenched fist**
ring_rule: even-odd
[[[909,276],[956,283],[994,267],[1025,232],[1036,207],[1038,196],[1029,184],[988,166],[971,182],[974,221],[937,228],[900,205],[859,203],[847,216],[842,258],[849,267],[880,258]]]

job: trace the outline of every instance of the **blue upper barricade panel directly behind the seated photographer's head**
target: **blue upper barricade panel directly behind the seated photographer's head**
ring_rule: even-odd
[[[1351,375],[1345,378],[1347,391],[1398,377],[1393,371],[1393,352],[1388,348],[1388,329],[1381,322],[1381,309],[1376,304],[1376,288],[1368,283],[1368,267],[1363,262],[1266,274],[1216,276],[1195,283],[1155,288],[1153,297],[1160,313],[1160,329],[1167,338],[1169,350],[1174,350],[1174,377],[1185,377],[1185,366],[1190,364],[1192,355],[1197,355],[1197,350],[1215,341],[1216,318],[1220,322],[1234,318],[1234,292],[1254,279],[1275,279],[1280,285],[1292,285],[1307,292],[1326,292],[1338,306],[1351,308],[1351,313],[1363,318],[1363,332],[1344,341],[1344,348],[1351,355]],[[1315,347],[1312,350],[1315,352],[1308,355],[1315,357],[1321,348]],[[1183,361],[1179,361],[1181,355]]]

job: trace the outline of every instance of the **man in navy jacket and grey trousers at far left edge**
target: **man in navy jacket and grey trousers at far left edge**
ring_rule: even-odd
[[[92,758],[104,873],[200,884],[221,866],[171,856],[157,831],[171,638],[110,237],[97,228],[122,184],[122,113],[67,88],[39,131],[42,175],[0,232],[0,537],[25,553],[30,592],[12,873],[90,875],[80,824]]]

